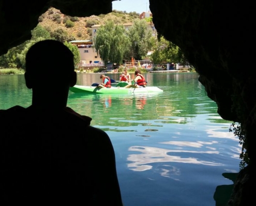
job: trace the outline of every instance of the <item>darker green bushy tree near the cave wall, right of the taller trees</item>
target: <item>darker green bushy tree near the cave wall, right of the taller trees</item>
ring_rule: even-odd
[[[155,64],[162,62],[180,62],[179,47],[172,42],[160,37],[156,45],[153,47],[151,58]]]

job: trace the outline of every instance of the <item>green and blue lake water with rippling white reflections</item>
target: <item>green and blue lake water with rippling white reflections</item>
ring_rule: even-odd
[[[78,74],[77,84],[99,83],[99,76]],[[118,74],[109,76],[118,79]],[[163,93],[70,92],[68,99],[69,107],[92,117],[91,125],[109,134],[124,205],[224,205],[233,184],[225,177],[237,173],[240,162],[241,147],[229,132],[231,122],[217,114],[197,73],[144,76],[148,86]],[[54,85],[50,92],[57,92]],[[1,109],[28,107],[31,97],[23,75],[0,75]]]

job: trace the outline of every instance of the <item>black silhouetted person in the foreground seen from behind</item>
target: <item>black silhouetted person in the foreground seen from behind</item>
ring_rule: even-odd
[[[77,81],[68,47],[34,44],[25,81],[32,105],[0,110],[0,205],[122,205],[109,136],[66,107]]]

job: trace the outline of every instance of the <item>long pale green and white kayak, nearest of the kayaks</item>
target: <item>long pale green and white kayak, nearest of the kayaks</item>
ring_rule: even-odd
[[[123,88],[123,87],[111,87],[111,88],[97,88],[92,86],[74,85],[69,90],[74,93],[87,93],[87,94],[132,94],[132,93],[159,93],[163,90],[158,87],[145,87],[145,88]]]

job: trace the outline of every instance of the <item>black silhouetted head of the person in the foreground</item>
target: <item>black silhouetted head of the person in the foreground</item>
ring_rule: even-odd
[[[50,84],[75,84],[73,53],[63,43],[43,40],[26,54],[26,85],[29,89]],[[75,81],[75,82],[74,82]]]

